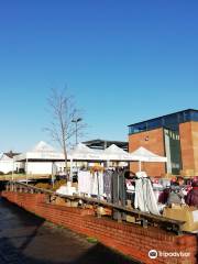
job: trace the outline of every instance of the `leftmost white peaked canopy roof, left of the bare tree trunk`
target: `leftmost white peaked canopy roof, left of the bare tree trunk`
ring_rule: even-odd
[[[69,158],[69,157],[68,157]],[[14,161],[47,161],[64,162],[64,154],[54,150],[50,144],[41,141],[31,151],[14,156]]]

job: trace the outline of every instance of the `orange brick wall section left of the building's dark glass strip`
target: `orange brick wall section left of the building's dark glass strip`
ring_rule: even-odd
[[[164,156],[163,129],[161,128],[129,135],[129,152],[133,152],[140,146],[144,146],[148,151]],[[165,166],[165,163],[143,163],[142,170],[145,170],[148,176],[163,176],[166,173]],[[132,162],[130,164],[130,170],[136,173],[139,170],[139,163]]]

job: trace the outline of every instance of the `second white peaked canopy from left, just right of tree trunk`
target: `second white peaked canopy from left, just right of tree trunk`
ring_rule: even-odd
[[[69,152],[69,156],[73,161],[103,161],[102,152],[92,150],[82,143],[78,143]]]

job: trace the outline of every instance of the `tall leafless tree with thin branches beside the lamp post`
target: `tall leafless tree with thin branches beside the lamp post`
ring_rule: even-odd
[[[79,119],[80,111],[76,108],[74,98],[67,95],[66,88],[62,91],[52,89],[47,105],[53,120],[45,130],[50,133],[52,140],[62,147],[67,173],[67,146],[73,136],[81,134],[86,124],[80,122],[80,124],[76,123],[75,125],[74,121]]]

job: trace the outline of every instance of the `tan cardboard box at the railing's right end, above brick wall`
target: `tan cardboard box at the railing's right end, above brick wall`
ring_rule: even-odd
[[[173,205],[172,208],[164,208],[163,216],[185,221],[182,231],[198,232],[198,209],[195,207]]]

